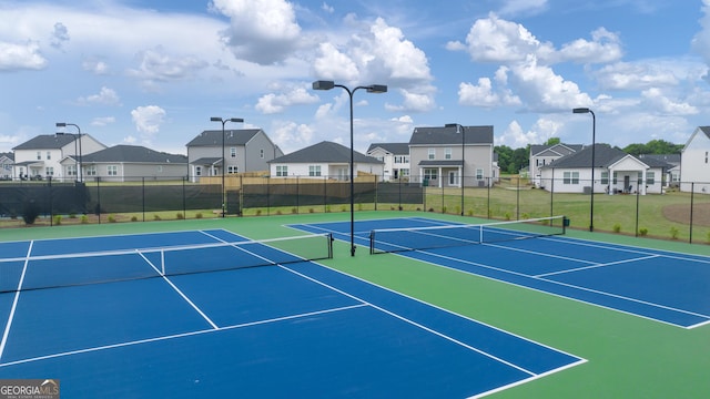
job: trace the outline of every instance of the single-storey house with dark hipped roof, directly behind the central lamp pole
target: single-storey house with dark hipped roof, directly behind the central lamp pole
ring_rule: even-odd
[[[351,149],[324,141],[308,147],[280,156],[270,162],[273,177],[312,177],[348,181],[351,171]],[[355,177],[367,173],[382,177],[384,162],[353,152],[353,170]]]

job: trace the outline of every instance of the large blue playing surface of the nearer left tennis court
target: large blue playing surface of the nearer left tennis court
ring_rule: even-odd
[[[236,242],[0,244],[0,379],[59,379],[70,398],[466,398],[585,361],[268,244],[131,253]],[[255,258],[273,265],[241,267]]]

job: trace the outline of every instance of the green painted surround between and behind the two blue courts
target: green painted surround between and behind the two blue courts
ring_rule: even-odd
[[[358,219],[424,216],[423,212],[358,212]],[[0,229],[0,241],[225,228],[252,239],[302,235],[288,224],[349,221],[349,213],[230,217]],[[710,246],[568,231],[592,241],[710,256]],[[710,395],[710,325],[686,329],[625,313],[490,280],[403,256],[369,255],[336,242],[322,264],[410,297],[587,359],[584,365],[491,395],[491,398],[702,398]],[[708,287],[710,298],[710,287]]]

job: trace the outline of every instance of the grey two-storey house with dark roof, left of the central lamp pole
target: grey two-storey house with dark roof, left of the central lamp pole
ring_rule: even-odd
[[[224,154],[223,154],[224,151]],[[225,165],[222,165],[224,155]],[[267,171],[268,162],[283,152],[261,129],[204,131],[187,143],[192,181],[222,173]]]

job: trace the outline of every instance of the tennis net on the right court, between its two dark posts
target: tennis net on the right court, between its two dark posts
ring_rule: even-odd
[[[369,253],[384,254],[497,243],[565,234],[565,216],[488,224],[454,224],[414,228],[381,228],[369,233]]]

